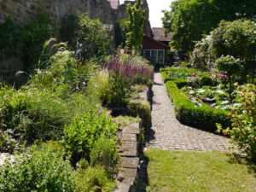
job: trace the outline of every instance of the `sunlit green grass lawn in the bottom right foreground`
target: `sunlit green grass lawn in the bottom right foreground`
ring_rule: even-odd
[[[150,149],[147,191],[256,191],[256,166],[234,154]]]

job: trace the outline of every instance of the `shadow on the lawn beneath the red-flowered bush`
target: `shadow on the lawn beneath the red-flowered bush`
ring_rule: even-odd
[[[253,177],[256,177],[256,163],[255,161],[248,160],[246,157],[241,157],[239,154],[227,154],[230,160],[230,164],[241,164],[247,167],[247,171],[250,174],[253,174]]]

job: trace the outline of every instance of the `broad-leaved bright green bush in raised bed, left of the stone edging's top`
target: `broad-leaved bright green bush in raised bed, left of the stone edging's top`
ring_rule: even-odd
[[[73,153],[73,159],[84,157],[90,160],[90,152],[101,136],[116,139],[116,125],[106,116],[106,111],[98,113],[90,110],[82,117],[76,118],[72,125],[66,125],[63,141],[66,148]]]

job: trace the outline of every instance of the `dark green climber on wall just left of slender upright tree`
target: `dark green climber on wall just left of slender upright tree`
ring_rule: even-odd
[[[118,20],[115,26],[115,47],[125,48],[126,45],[126,34],[128,33],[128,21]]]

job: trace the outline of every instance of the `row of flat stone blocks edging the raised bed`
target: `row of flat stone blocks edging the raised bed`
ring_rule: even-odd
[[[141,99],[149,102],[150,90],[151,87],[141,92]],[[143,130],[142,121],[126,125],[119,136],[122,140],[122,145],[119,148],[122,163],[121,170],[117,177],[118,188],[114,190],[115,192],[134,192],[137,189],[138,178],[141,171],[140,156],[143,153],[143,139],[141,135],[141,131]]]

